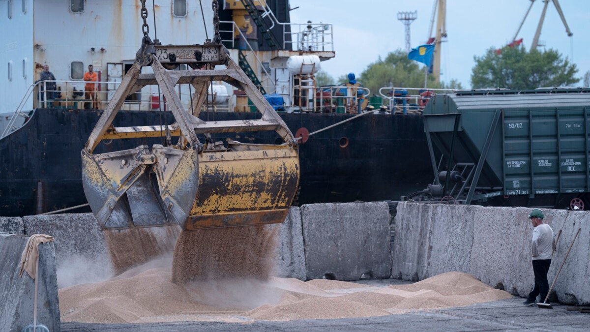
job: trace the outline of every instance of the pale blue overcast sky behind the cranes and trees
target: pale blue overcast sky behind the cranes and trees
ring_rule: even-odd
[[[389,52],[404,48],[404,25],[398,11],[418,11],[411,25],[412,47],[425,43],[434,0],[291,0],[291,22],[333,24],[336,57],[322,63],[322,69],[337,78],[350,71],[360,74],[368,64]],[[473,56],[487,48],[511,41],[530,0],[447,0],[447,43],[442,45],[441,80],[457,79],[471,86]],[[540,41],[555,48],[578,66],[578,77],[590,70],[587,31],[590,28],[590,0],[561,0],[572,37],[568,37],[555,6],[550,2]],[[543,9],[536,0],[520,30],[527,50]],[[581,84],[580,82],[579,84]]]

